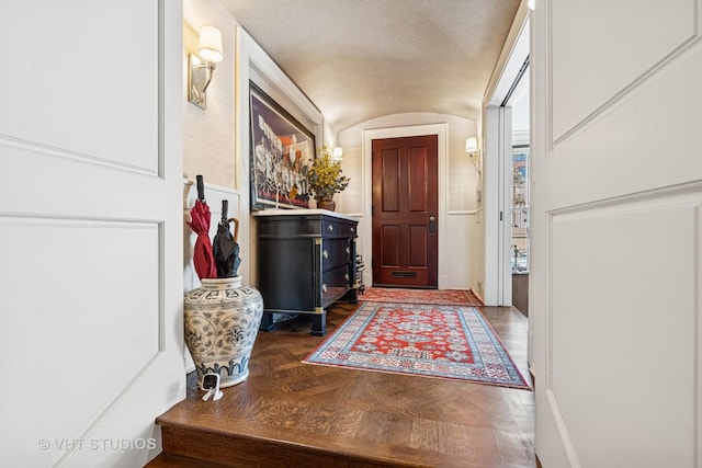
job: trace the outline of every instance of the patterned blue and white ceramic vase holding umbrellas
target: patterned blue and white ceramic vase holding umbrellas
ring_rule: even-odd
[[[249,359],[263,317],[258,289],[241,286],[241,276],[202,279],[202,287],[185,295],[185,344],[197,383],[205,374],[219,374],[220,387],[245,381]]]

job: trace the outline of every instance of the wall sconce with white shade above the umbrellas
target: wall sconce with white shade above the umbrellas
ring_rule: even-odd
[[[222,61],[222,33],[205,24],[200,28],[197,55],[188,54],[188,101],[200,109],[207,109],[207,87],[215,71],[215,62]]]

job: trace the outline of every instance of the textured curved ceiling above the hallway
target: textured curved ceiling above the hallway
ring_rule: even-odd
[[[477,119],[520,0],[220,0],[341,132],[404,112]]]

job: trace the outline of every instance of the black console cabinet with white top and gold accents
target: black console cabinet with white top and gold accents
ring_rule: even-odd
[[[312,313],[312,334],[324,335],[326,308],[342,297],[358,301],[358,219],[325,209],[263,210],[254,216],[261,330],[273,329],[273,313]]]

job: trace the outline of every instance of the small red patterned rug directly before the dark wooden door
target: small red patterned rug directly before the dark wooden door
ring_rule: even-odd
[[[406,289],[369,287],[359,296],[367,303],[434,304],[482,307],[483,301],[467,289]]]

